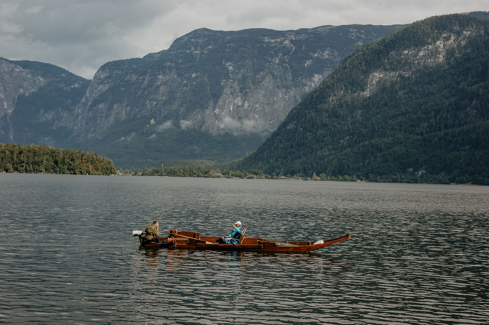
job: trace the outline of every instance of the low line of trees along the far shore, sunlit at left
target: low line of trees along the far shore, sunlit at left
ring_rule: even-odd
[[[147,167],[142,169],[132,168],[131,170],[123,170],[121,168],[117,171],[110,159],[99,156],[96,153],[88,153],[82,150],[60,149],[45,145],[11,143],[0,143],[0,172],[450,184],[446,177],[416,172],[396,175],[363,175],[361,173],[356,173],[355,175],[327,175],[325,173],[316,175],[314,172],[312,177],[308,177],[306,175],[266,174],[258,169],[231,170],[226,168],[193,166]],[[464,179],[457,183],[469,182],[465,182]]]

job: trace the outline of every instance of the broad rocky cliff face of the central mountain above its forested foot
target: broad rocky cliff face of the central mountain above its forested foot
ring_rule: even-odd
[[[348,53],[397,27],[195,30],[168,50],[104,64],[76,107],[77,136],[139,118],[212,134],[274,129]]]

